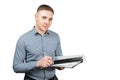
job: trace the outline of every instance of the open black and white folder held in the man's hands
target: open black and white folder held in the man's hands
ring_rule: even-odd
[[[70,55],[70,56],[58,56],[54,59],[54,64],[51,67],[65,67],[73,68],[84,61],[84,56]]]

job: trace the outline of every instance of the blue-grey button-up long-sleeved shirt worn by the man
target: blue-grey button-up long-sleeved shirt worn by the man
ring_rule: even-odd
[[[60,39],[57,33],[48,30],[40,35],[35,28],[22,35],[17,44],[13,69],[25,73],[35,80],[49,79],[54,76],[55,68],[37,68],[36,62],[44,56],[62,56]]]

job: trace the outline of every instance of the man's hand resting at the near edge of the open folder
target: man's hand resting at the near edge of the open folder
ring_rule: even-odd
[[[37,61],[36,66],[37,66],[37,67],[45,68],[45,67],[49,67],[49,66],[52,65],[52,64],[53,64],[52,57],[50,57],[50,56],[45,56],[45,57],[43,57],[42,59],[40,59],[40,60]]]

